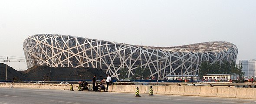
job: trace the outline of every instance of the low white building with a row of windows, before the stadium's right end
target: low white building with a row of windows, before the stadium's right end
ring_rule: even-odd
[[[208,75],[203,75],[204,81],[229,81],[230,79],[232,80],[237,80],[239,78],[238,74],[208,74]]]

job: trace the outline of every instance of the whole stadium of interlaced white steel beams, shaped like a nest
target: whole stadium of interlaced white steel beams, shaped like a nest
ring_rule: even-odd
[[[236,61],[237,47],[230,42],[203,42],[174,47],[135,46],[75,36],[37,34],[23,43],[28,68],[51,67],[101,68],[118,78],[128,69],[128,77],[136,68],[150,69],[151,76],[197,75],[202,61]]]

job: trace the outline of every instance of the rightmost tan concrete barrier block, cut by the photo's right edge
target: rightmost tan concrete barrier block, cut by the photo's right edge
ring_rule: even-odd
[[[236,98],[256,99],[256,88],[237,88]]]

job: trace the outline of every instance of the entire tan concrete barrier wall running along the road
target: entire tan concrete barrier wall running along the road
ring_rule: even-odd
[[[74,91],[77,91],[79,84],[73,84]],[[42,88],[69,90],[71,84],[0,84],[0,87],[10,88]],[[89,88],[92,85],[89,85]],[[150,85],[111,85],[108,91],[135,93],[139,87],[140,93],[149,94]],[[226,88],[226,87],[196,87],[196,86],[152,86],[153,94],[173,94],[188,96],[207,97],[230,97],[256,99],[256,88]]]

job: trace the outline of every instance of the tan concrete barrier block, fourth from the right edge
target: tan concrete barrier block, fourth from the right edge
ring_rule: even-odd
[[[185,86],[185,91],[183,95],[198,96],[200,94],[200,88],[196,86]]]

